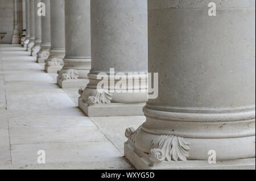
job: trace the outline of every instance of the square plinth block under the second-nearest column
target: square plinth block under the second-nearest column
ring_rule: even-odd
[[[79,98],[79,107],[89,117],[101,116],[141,116],[144,115],[143,107],[146,103],[108,103],[88,105]]]

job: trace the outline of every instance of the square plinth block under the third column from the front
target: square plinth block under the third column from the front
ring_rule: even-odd
[[[77,79],[61,79],[57,77],[57,84],[61,88],[82,88],[85,89],[86,85],[89,83],[89,79],[77,78]]]

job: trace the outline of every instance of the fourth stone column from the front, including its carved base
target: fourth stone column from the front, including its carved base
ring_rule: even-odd
[[[65,56],[65,14],[64,0],[50,1],[51,6],[51,50],[45,70],[57,73],[64,65]]]

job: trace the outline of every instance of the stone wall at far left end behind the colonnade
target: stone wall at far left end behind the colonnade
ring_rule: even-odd
[[[14,5],[12,0],[0,0],[0,32],[7,33],[2,43],[11,43],[13,36]]]

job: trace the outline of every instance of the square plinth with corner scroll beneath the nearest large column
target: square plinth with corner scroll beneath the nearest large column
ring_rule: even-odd
[[[138,170],[255,170],[255,158],[216,161],[215,164],[199,160],[154,163],[130,141],[125,142],[125,157]]]

